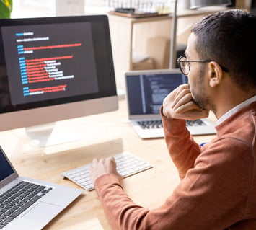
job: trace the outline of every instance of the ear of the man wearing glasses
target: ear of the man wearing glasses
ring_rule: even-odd
[[[221,66],[219,66],[219,64],[215,61],[211,61],[208,64],[208,67],[209,85],[211,87],[216,87],[221,83],[221,80],[223,78],[223,71],[221,69]]]

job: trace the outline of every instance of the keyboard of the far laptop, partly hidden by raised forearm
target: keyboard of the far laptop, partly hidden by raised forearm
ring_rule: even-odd
[[[143,129],[163,128],[162,120],[139,120],[138,125]],[[187,126],[206,125],[203,120],[186,120]]]

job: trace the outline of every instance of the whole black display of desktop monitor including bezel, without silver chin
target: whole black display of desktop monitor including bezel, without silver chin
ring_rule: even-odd
[[[116,94],[107,19],[88,18],[1,26],[0,112]]]

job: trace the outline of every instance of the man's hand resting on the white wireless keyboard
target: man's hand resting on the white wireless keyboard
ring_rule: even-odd
[[[106,159],[93,159],[92,165],[89,166],[89,173],[92,179],[92,183],[94,184],[95,180],[98,177],[101,177],[104,174],[115,174],[119,180],[122,180],[120,174],[116,169],[115,159],[113,157],[108,157]]]

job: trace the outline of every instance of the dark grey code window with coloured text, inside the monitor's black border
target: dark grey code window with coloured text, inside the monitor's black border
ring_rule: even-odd
[[[2,29],[12,105],[98,92],[90,26]]]

